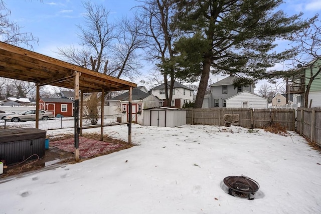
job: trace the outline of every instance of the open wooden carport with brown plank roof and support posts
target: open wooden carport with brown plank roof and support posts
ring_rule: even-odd
[[[83,93],[101,92],[101,140],[103,140],[103,105],[106,91],[129,90],[129,114],[131,115],[131,92],[137,85],[132,82],[94,72],[61,60],[38,54],[23,48],[0,42],[0,77],[33,82],[37,87],[36,128],[39,127],[40,86],[51,85],[75,90],[75,160],[79,160],[79,134],[82,130],[82,111],[79,127],[79,92],[81,109]],[[131,144],[131,116],[127,123],[128,143]]]

